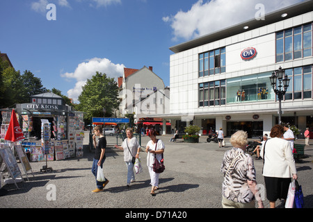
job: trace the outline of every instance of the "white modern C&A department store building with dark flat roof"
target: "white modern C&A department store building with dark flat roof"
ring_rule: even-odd
[[[313,128],[312,8],[303,1],[170,47],[170,112],[157,117],[181,132],[193,123],[202,134],[269,134],[279,105],[269,77],[282,67],[290,78],[282,122]]]

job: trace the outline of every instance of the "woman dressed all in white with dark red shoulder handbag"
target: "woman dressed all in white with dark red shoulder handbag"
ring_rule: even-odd
[[[154,196],[154,191],[159,189],[160,173],[153,171],[153,164],[155,158],[157,158],[158,161],[162,160],[165,146],[161,139],[157,139],[157,132],[155,130],[150,130],[149,137],[151,140],[147,142],[145,152],[147,153],[147,167],[149,169],[152,185],[150,194]]]

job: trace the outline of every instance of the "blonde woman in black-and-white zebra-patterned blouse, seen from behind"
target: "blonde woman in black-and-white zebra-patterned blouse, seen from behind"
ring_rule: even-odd
[[[238,130],[230,137],[233,148],[226,151],[220,171],[224,173],[222,185],[223,208],[254,208],[255,199],[263,208],[261,195],[257,189],[255,166],[252,157],[245,153],[248,135]]]

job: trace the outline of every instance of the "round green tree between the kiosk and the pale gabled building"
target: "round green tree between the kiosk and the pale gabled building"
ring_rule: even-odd
[[[103,117],[103,109],[106,109],[105,117],[111,117],[118,108],[118,84],[114,78],[106,74],[96,72],[95,76],[88,79],[83,91],[79,95],[78,110],[85,112],[84,118]]]

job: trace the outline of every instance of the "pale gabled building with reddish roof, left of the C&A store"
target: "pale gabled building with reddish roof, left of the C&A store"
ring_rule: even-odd
[[[138,132],[141,128],[161,129],[161,119],[152,117],[147,121],[147,115],[169,112],[169,89],[165,88],[163,80],[152,70],[152,67],[125,68],[124,75],[118,79],[120,117],[134,114],[134,123],[131,124],[136,124]]]

